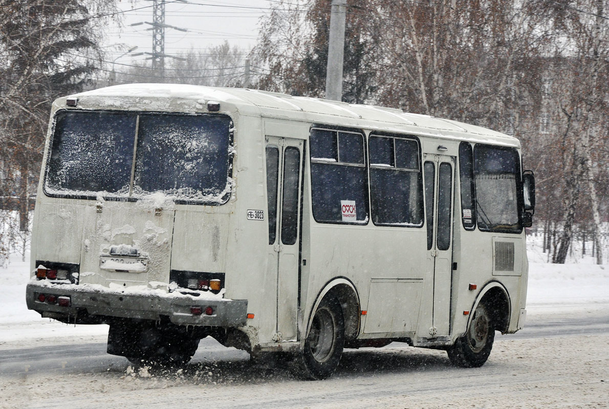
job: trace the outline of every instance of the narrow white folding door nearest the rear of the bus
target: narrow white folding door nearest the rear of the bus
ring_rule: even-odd
[[[273,340],[295,340],[303,141],[267,136],[266,143],[269,273],[276,278],[276,333]]]

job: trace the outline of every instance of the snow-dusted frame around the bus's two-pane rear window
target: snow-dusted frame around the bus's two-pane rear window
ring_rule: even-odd
[[[157,116],[221,116],[221,117],[226,117],[229,119],[230,121],[230,125],[229,125],[229,132],[228,132],[228,152],[227,152],[227,159],[228,159],[228,172],[227,172],[227,183],[225,185],[225,189],[228,188],[228,192],[227,194],[225,194],[223,197],[221,197],[218,201],[203,201],[203,200],[193,200],[193,199],[180,199],[180,198],[175,198],[173,201],[176,205],[199,205],[199,206],[222,206],[225,205],[226,203],[228,203],[228,201],[230,200],[230,198],[233,195],[233,186],[234,186],[234,181],[233,181],[233,167],[234,167],[234,156],[236,153],[235,147],[234,147],[234,120],[233,117],[231,117],[228,114],[216,114],[216,113],[184,113],[184,112],[166,112],[166,111],[130,111],[130,110],[83,110],[83,109],[60,109],[55,111],[55,113],[53,114],[52,117],[52,122],[51,122],[51,127],[49,129],[49,138],[48,138],[48,147],[46,147],[45,153],[46,153],[46,159],[44,161],[44,176],[43,176],[43,193],[46,197],[51,197],[51,198],[68,198],[68,199],[79,199],[79,200],[97,200],[97,196],[96,195],[86,195],[86,194],[74,194],[74,193],[59,193],[56,191],[51,191],[49,192],[47,187],[47,183],[48,183],[48,174],[49,174],[49,169],[50,169],[50,164],[51,164],[51,152],[53,149],[53,142],[54,142],[54,138],[55,138],[55,130],[57,127],[57,117],[58,115],[62,114],[62,113],[67,113],[67,112],[82,112],[82,113],[108,113],[108,114],[119,114],[119,113],[126,113],[126,114],[133,114],[134,116],[139,116],[139,115],[146,115],[146,116],[150,116],[150,115],[157,115]],[[135,141],[135,135],[133,135],[134,141]],[[132,161],[135,162],[136,158],[133,158],[132,156]],[[135,184],[135,180],[132,181]],[[131,186],[130,189],[131,193],[133,193],[133,186]],[[156,192],[163,192],[163,191],[156,191]],[[147,194],[144,195],[139,195],[139,196],[133,196],[133,195],[125,195],[125,194],[114,194],[111,192],[102,192],[101,196],[104,198],[104,200],[106,201],[122,201],[122,202],[136,202],[139,200],[142,200],[143,198],[146,198],[148,195],[150,194],[154,194],[155,192],[149,192]],[[167,194],[167,197],[172,197],[172,195]]]

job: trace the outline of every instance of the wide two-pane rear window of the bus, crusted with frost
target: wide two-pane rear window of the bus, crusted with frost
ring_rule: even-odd
[[[219,205],[230,196],[231,120],[222,115],[60,111],[44,191]]]

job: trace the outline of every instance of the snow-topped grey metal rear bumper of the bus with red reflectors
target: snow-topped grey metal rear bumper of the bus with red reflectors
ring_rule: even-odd
[[[79,288],[80,287],[80,288]],[[70,298],[70,306],[38,301],[44,294]],[[219,327],[244,326],[247,321],[247,300],[206,299],[204,296],[169,294],[122,293],[98,288],[82,288],[76,284],[49,284],[32,281],[26,287],[27,308],[43,317],[69,323],[101,323],[111,318],[161,320],[166,316],[178,325]],[[191,307],[212,307],[212,315],[193,315]]]

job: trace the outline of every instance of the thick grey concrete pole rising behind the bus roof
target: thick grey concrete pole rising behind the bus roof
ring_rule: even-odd
[[[326,71],[326,99],[335,101],[342,100],[346,15],[347,0],[332,0],[330,35],[328,40],[328,68]]]

